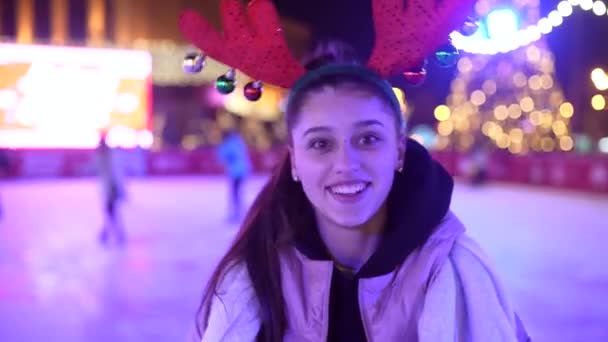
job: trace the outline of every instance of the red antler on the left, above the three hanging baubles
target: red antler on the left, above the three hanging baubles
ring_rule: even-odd
[[[184,11],[179,26],[201,51],[248,76],[289,88],[305,73],[293,57],[270,0],[253,0],[243,8],[240,0],[220,4],[223,35],[194,11]]]

